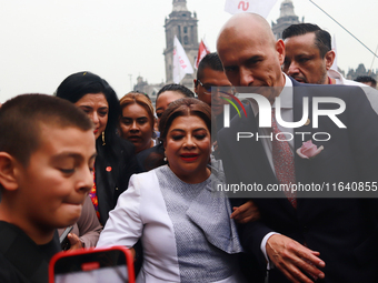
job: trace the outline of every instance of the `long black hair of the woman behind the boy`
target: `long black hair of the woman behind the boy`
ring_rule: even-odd
[[[109,112],[107,128],[105,129],[105,145],[100,146],[103,143],[100,135],[96,141],[96,148],[98,151],[100,148],[109,148],[110,151],[113,151],[112,145],[118,138],[118,119],[121,115],[121,107],[115,90],[106,80],[91,72],[72,73],[60,83],[56,95],[76,103],[88,93],[103,93],[108,101]]]

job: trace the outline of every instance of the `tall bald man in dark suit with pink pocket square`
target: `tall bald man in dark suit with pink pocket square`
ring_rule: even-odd
[[[281,132],[294,137],[287,140],[291,140],[288,146],[297,184],[328,184],[334,189],[334,184],[344,188],[360,183],[361,190],[371,184],[376,189],[378,117],[365,95],[361,99],[362,90],[305,85],[289,79],[280,68],[285,58],[284,42],[275,40],[267,21],[257,14],[233,16],[221,29],[217,49],[233,85],[273,87],[276,91],[263,91],[263,95],[273,109],[276,98],[280,98],[284,121],[301,120],[304,98],[308,98],[309,119],[304,125],[295,129],[278,125]],[[327,115],[319,117],[318,127],[314,124],[312,99],[325,97],[344,101],[346,109],[335,120],[346,128]],[[251,102],[247,117],[235,117],[230,127],[219,132],[218,144],[228,183],[256,183],[267,189],[282,181],[275,163],[273,142],[256,138],[257,134],[267,135],[269,130],[258,127],[257,115],[261,109]],[[328,112],[338,108],[335,103],[318,107]],[[237,141],[238,132],[251,132],[255,137]],[[327,139],[314,135],[320,132],[327,133]],[[308,140],[324,148],[311,160],[296,153]],[[240,237],[245,249],[258,256],[262,265],[268,263],[270,282],[377,281],[377,199],[327,199],[321,193],[318,194],[321,198],[311,199],[301,198],[304,195],[298,192],[290,196],[290,203],[284,192],[282,198],[251,195],[261,219],[242,225]]]

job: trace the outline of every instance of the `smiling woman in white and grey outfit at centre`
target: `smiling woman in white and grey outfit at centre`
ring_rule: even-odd
[[[217,179],[208,169],[210,107],[193,98],[177,100],[159,130],[168,165],[131,176],[98,246],[131,247],[141,239],[145,262],[137,282],[242,282],[231,209],[211,185]]]

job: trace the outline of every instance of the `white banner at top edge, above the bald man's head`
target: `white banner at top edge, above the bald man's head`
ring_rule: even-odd
[[[226,0],[225,11],[229,13],[252,12],[267,19],[277,0]]]

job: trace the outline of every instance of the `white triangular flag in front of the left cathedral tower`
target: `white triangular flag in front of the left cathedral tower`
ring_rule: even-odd
[[[193,68],[185,52],[180,41],[175,36],[173,41],[173,82],[180,83],[187,73],[193,73]]]

